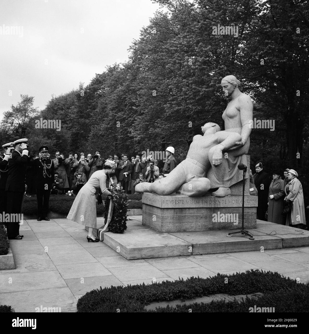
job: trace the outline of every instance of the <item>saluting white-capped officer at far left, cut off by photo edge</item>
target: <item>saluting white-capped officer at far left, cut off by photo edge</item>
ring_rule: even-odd
[[[6,180],[8,178],[8,162],[11,157],[11,150],[14,150],[13,143],[7,143],[2,145],[4,152],[0,157],[0,214],[6,212],[7,196],[5,192]],[[2,220],[4,222],[4,219]],[[4,222],[6,227],[6,223]]]

